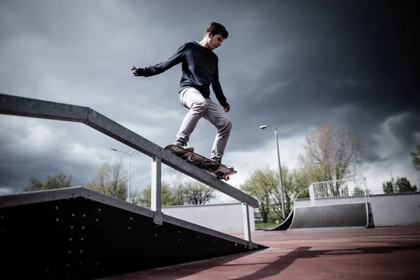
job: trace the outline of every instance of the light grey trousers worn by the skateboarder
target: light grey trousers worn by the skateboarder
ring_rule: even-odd
[[[188,143],[190,134],[195,129],[200,118],[205,118],[217,129],[210,159],[220,163],[223,153],[225,153],[226,144],[228,144],[230,130],[232,129],[230,118],[228,118],[221,106],[218,106],[210,98],[204,98],[194,87],[181,90],[179,92],[179,101],[182,106],[190,109],[190,111],[183,119],[181,128],[176,134],[176,141]]]

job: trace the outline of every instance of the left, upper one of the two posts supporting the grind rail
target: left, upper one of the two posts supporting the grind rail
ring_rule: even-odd
[[[151,178],[151,209],[155,211],[153,222],[162,225],[162,162],[160,158],[152,158]]]

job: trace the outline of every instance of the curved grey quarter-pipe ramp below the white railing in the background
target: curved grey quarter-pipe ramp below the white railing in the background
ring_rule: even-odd
[[[368,202],[294,207],[288,218],[271,230],[374,228]]]

